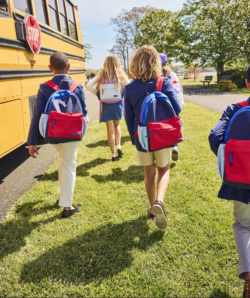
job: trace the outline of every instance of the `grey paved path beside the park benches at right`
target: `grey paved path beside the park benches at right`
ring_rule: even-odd
[[[231,103],[239,103],[247,100],[248,96],[215,91],[210,88],[197,88],[192,86],[183,87],[184,99],[202,105],[212,111],[223,113]]]

